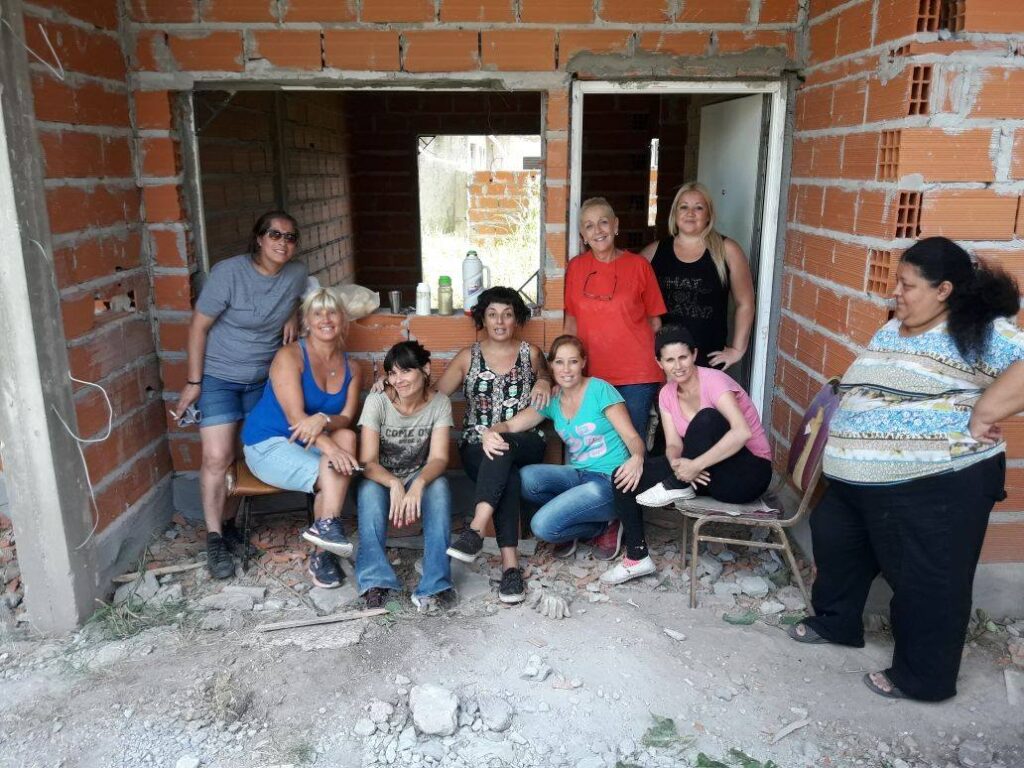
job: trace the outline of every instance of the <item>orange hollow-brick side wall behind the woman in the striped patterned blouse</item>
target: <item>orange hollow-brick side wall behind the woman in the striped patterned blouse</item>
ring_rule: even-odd
[[[938,6],[810,4],[772,412],[778,445],[824,378],[842,374],[887,319],[899,254],[916,238],[944,234],[1024,273],[1024,19],[998,0],[969,0],[966,16],[949,20]],[[938,38],[943,25],[948,39]],[[1006,516],[1024,510],[1021,420],[1008,432],[1010,499],[993,515],[989,561],[1024,556],[1024,529]]]

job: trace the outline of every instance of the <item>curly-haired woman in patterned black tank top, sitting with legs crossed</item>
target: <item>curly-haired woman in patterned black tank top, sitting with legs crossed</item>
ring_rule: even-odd
[[[546,406],[551,377],[544,352],[517,338],[529,319],[529,310],[511,288],[489,288],[473,307],[473,322],[486,333],[482,341],[461,350],[437,383],[451,395],[460,387],[466,397],[466,417],[459,454],[466,473],[476,483],[473,519],[447,553],[473,562],[483,547],[483,532],[494,521],[502,552],[502,602],[517,603],[526,593],[519,569],[519,468],[544,461],[545,440],[540,430],[507,435],[510,450],[488,459],[480,435],[493,424],[508,421],[529,406]]]

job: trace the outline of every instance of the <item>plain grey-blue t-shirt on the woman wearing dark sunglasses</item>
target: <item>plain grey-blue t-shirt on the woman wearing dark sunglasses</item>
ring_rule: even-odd
[[[238,384],[266,378],[281,348],[281,331],[306,286],[306,265],[289,261],[261,274],[247,254],[213,265],[196,309],[213,317],[203,373]]]

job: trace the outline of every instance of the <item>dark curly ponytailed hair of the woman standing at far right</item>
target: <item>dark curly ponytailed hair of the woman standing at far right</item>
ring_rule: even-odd
[[[937,288],[952,286],[946,306],[946,328],[964,359],[974,365],[988,342],[992,321],[1020,309],[1017,282],[1001,268],[971,260],[970,254],[946,238],[926,238],[910,246],[902,262],[915,266]]]

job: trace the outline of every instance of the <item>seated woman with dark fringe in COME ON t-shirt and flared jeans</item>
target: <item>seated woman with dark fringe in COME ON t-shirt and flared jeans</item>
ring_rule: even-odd
[[[452,402],[430,391],[430,352],[402,341],[384,357],[383,392],[367,397],[359,417],[359,463],[366,467],[356,507],[359,551],[355,578],[367,606],[379,608],[400,589],[384,545],[388,522],[402,527],[423,519],[423,578],[413,592],[421,612],[449,603],[452,565],[452,494],[447,469]]]

